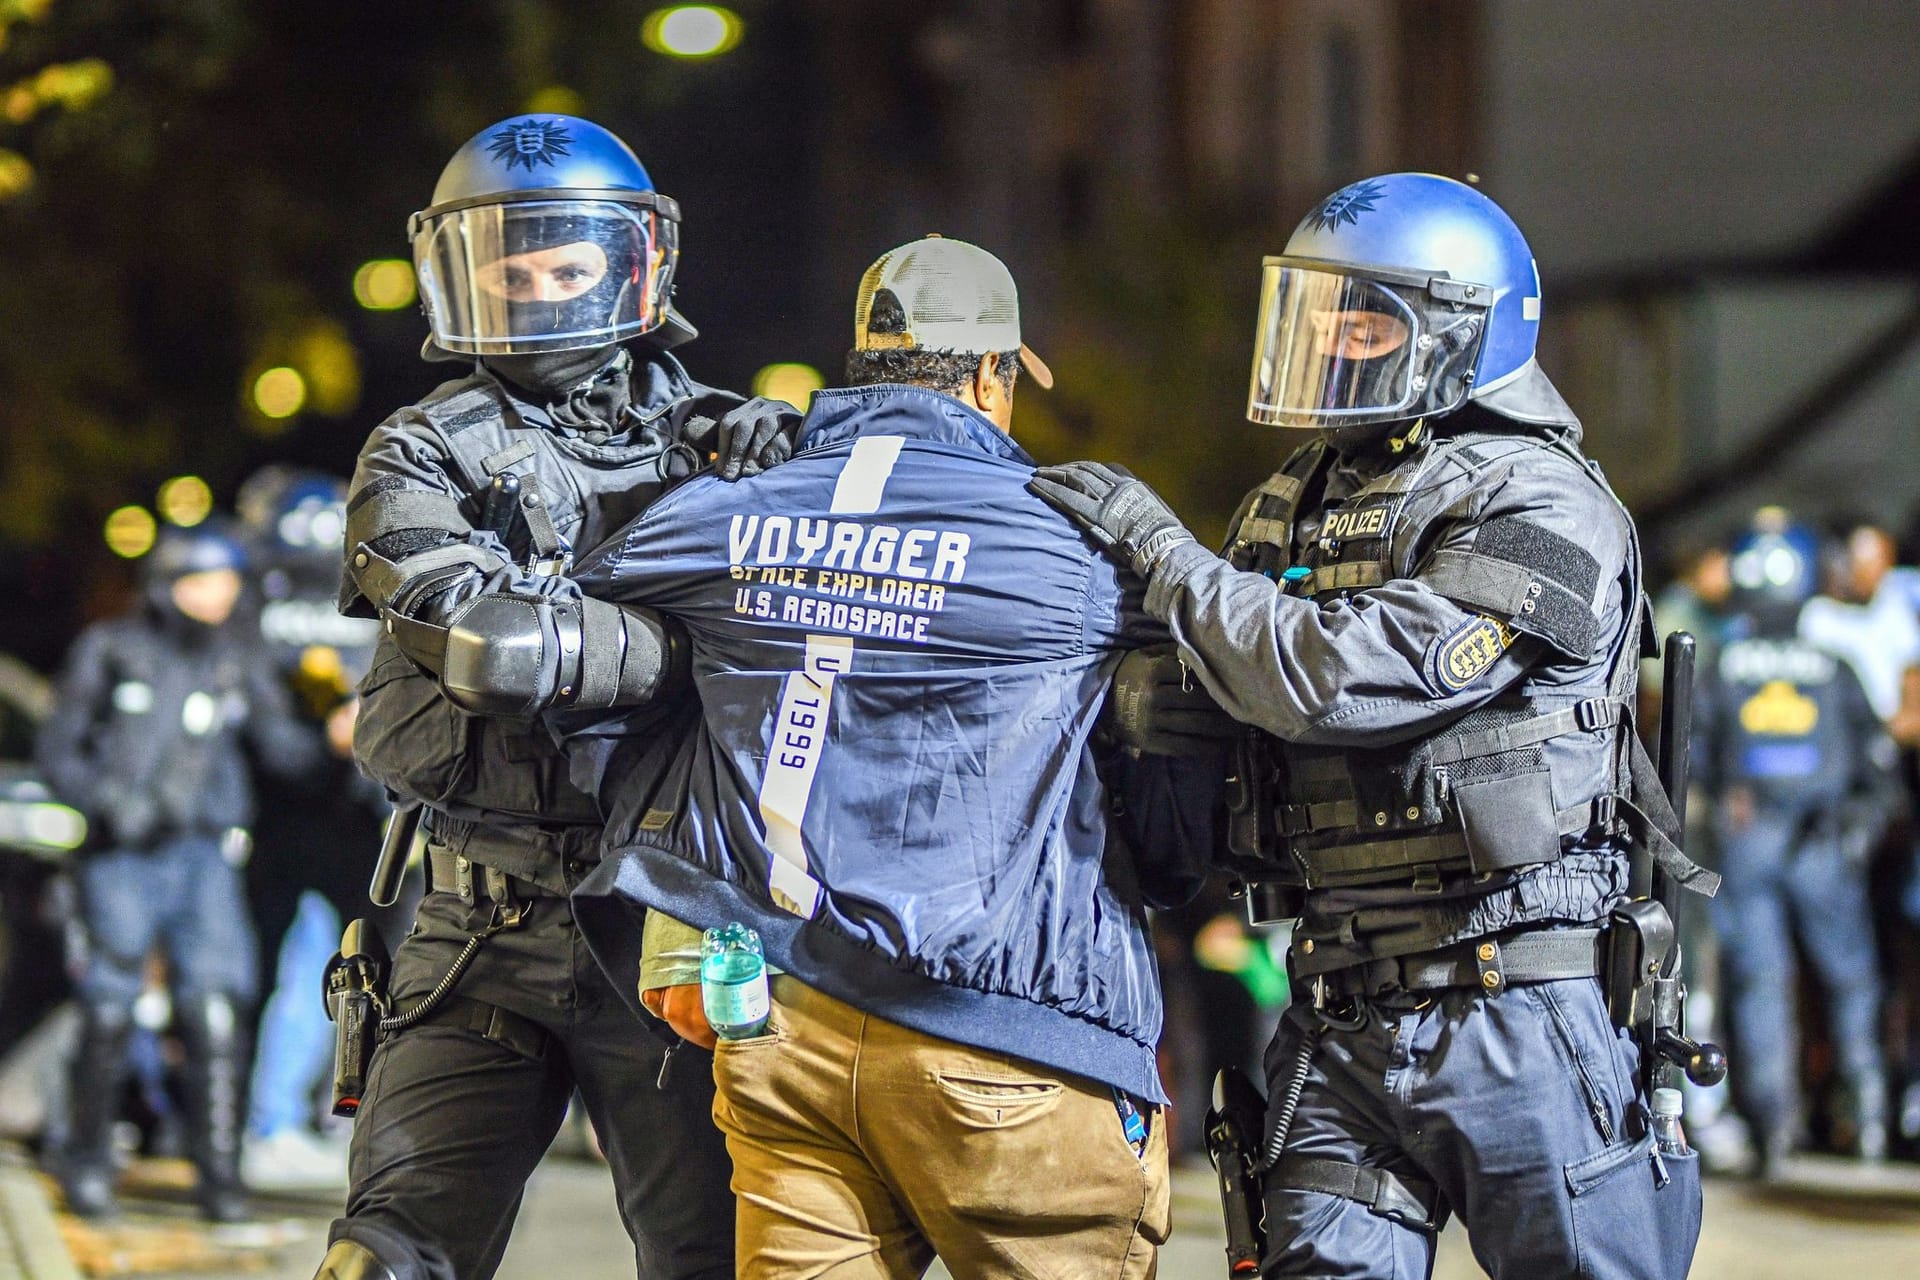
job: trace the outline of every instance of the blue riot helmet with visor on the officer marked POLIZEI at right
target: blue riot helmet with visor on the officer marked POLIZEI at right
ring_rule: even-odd
[[[1540,273],[1500,205],[1430,173],[1354,182],[1263,263],[1246,416],[1338,432],[1473,399],[1571,424],[1538,332]]]

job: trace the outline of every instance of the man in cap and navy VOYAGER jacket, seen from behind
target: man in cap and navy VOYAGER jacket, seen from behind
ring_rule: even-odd
[[[1006,267],[900,246],[860,278],[854,386],[814,395],[806,451],[689,484],[580,570],[687,624],[703,695],[680,814],[649,770],[609,773],[618,892],[674,917],[649,950],[745,921],[785,971],[768,1034],[714,1057],[741,1276],[904,1280],[935,1251],[1150,1276],[1167,1238],[1146,904],[1200,871],[1116,846],[1091,747],[1121,649],[1164,633],[1025,491],[1020,367],[1052,384]],[[632,917],[589,935],[614,954]],[[643,977],[689,1038],[695,983]]]

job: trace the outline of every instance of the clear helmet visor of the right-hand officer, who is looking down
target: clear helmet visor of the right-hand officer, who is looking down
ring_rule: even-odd
[[[1336,428],[1446,413],[1467,397],[1482,338],[1478,307],[1269,259],[1246,416]]]

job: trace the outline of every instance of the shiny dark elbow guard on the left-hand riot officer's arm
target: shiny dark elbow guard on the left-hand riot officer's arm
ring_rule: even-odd
[[[605,601],[478,595],[447,628],[440,687],[476,716],[639,706],[685,677],[678,624]]]

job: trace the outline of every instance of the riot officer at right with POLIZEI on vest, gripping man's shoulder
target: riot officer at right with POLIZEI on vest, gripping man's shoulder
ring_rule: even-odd
[[[1356,182],[1265,259],[1248,416],[1315,439],[1225,557],[1119,468],[1035,480],[1252,725],[1233,846],[1300,917],[1265,1059],[1273,1276],[1425,1276],[1448,1213],[1496,1274],[1684,1276],[1693,1251],[1695,1161],[1657,1151],[1596,981],[1622,819],[1645,825],[1640,553],[1538,326],[1492,200]]]

